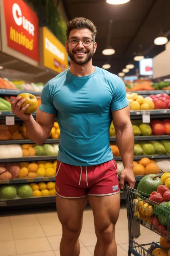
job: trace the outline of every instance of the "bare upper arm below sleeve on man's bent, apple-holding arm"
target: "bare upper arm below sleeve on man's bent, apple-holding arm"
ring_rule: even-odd
[[[36,114],[36,122],[39,125],[42,125],[46,129],[46,133],[49,134],[52,126],[55,122],[56,114],[50,114],[43,112],[38,109],[37,114]]]

